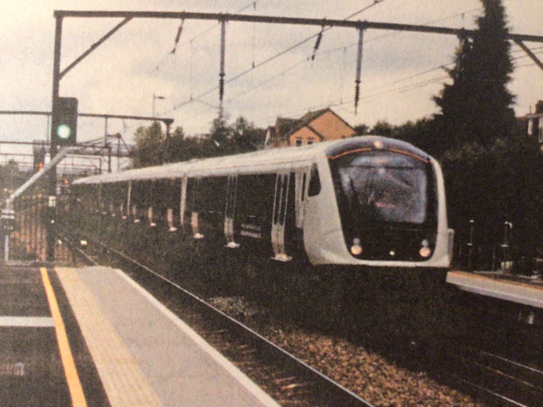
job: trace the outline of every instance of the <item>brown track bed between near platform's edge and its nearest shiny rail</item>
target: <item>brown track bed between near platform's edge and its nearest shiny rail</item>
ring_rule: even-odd
[[[98,264],[97,256],[90,255],[87,250],[81,250],[73,237],[59,233],[59,238],[77,252],[85,263]],[[117,257],[122,263],[130,266],[132,272],[139,275],[136,276],[138,280],[143,279],[147,282],[145,284],[147,289],[152,285],[151,290],[154,288],[153,291],[156,292],[153,294],[159,297],[159,300],[166,302],[169,308],[173,308],[172,310],[191,326],[198,326],[200,335],[219,352],[233,359],[233,363],[261,384],[281,405],[371,407],[367,400],[214,308],[192,292],[102,241],[94,238],[89,240],[91,246],[100,247],[103,252]],[[187,313],[187,309],[191,311]]]

